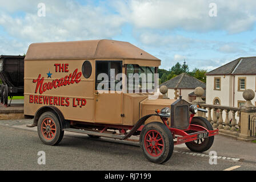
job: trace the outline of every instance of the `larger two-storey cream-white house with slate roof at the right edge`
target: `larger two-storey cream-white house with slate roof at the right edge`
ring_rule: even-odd
[[[206,74],[206,104],[239,107],[243,90],[256,90],[256,57],[240,57]],[[251,101],[256,105],[256,98]]]

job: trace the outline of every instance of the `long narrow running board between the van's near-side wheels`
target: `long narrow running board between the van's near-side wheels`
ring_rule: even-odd
[[[82,134],[87,134],[87,135],[94,135],[94,136],[98,136],[98,137],[115,138],[115,139],[121,139],[121,140],[125,138],[125,135],[99,133],[97,131],[88,131],[88,130],[81,130],[81,129],[67,128],[67,129],[64,129],[64,131],[82,133]]]

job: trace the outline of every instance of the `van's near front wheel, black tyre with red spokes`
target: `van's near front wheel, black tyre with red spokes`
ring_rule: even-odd
[[[166,162],[173,154],[173,135],[163,123],[151,122],[145,125],[139,140],[143,154],[153,163]]]

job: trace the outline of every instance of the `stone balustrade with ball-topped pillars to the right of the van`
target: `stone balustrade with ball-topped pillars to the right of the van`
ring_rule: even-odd
[[[214,129],[219,129],[220,134],[240,140],[256,139],[256,134],[251,134],[250,129],[250,118],[256,115],[256,107],[251,104],[255,96],[253,90],[246,89],[243,92],[246,104],[241,107],[205,104],[201,98],[203,92],[205,91],[202,88],[196,88],[194,92],[197,98],[192,104],[207,110],[207,113],[198,111],[198,116],[206,118]]]

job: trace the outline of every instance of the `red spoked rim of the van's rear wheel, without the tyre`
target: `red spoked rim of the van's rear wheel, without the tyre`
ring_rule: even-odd
[[[41,125],[41,131],[43,134],[43,137],[47,140],[51,140],[55,137],[56,133],[56,125],[53,119],[51,118],[45,118],[43,119],[42,125]]]

